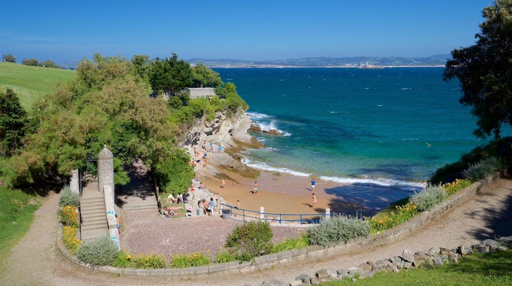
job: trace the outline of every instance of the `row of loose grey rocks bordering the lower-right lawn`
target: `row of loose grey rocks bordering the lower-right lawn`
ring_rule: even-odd
[[[497,252],[504,251],[509,248],[512,248],[512,236],[485,239],[481,243],[474,244],[471,247],[459,246],[454,249],[433,247],[427,253],[404,250],[399,256],[379,259],[375,262],[368,261],[357,265],[357,267],[351,267],[349,269],[320,269],[312,276],[302,274],[297,276],[295,281],[290,281],[288,283],[272,280],[272,284],[268,284],[267,280],[260,285],[317,285],[320,282],[343,280],[346,277],[355,281],[357,280],[355,277],[358,277],[358,279],[365,279],[372,277],[375,273],[380,271],[400,272],[402,269],[431,268],[441,266],[444,263],[458,263],[459,259],[464,258],[464,255],[466,254],[473,254],[475,252]],[[265,284],[266,282],[267,284]]]

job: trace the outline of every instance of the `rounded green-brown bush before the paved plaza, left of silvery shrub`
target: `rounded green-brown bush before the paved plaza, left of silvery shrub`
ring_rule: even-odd
[[[226,237],[226,247],[236,248],[237,258],[249,261],[272,250],[272,236],[268,221],[244,221]]]

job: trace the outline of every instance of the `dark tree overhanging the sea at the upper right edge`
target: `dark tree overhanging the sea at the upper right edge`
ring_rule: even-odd
[[[482,16],[476,44],[452,51],[443,80],[459,79],[459,102],[478,118],[473,134],[499,138],[502,125],[512,126],[512,0],[496,0]]]

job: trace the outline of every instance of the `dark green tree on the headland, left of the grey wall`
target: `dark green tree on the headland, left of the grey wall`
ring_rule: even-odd
[[[164,60],[157,57],[156,61],[150,64],[150,85],[158,93],[176,93],[190,87],[192,79],[190,64],[183,59],[178,60],[175,53],[172,58],[165,57]]]

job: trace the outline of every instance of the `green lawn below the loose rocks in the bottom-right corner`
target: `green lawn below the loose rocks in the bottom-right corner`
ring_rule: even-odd
[[[321,285],[512,285],[512,249],[495,253],[467,255],[459,263],[430,269],[379,272],[371,278],[351,279]]]

